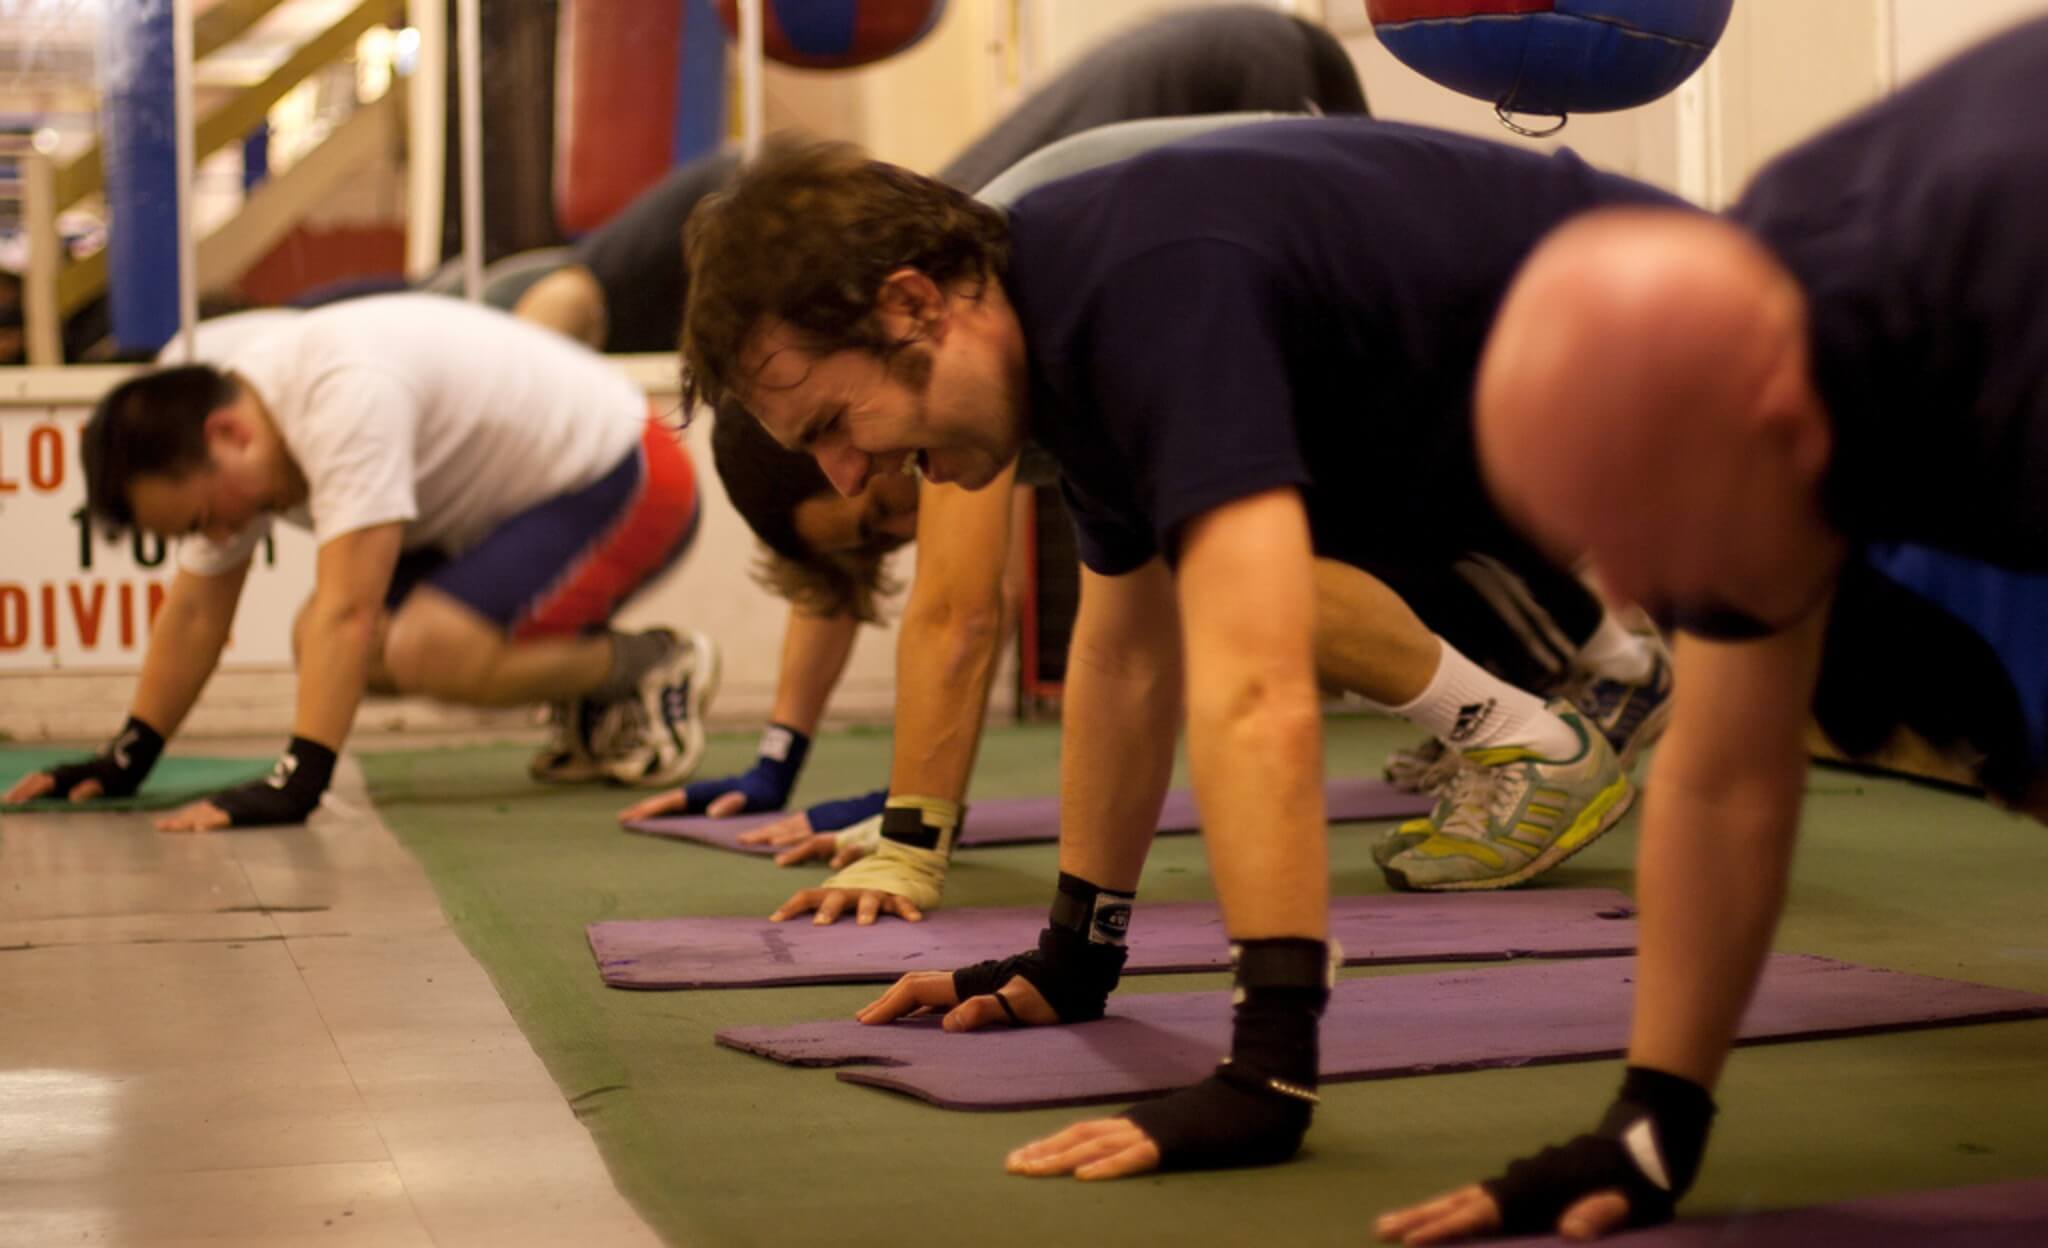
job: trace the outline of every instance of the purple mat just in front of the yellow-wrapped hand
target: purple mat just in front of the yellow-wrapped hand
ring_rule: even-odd
[[[1038,943],[1042,908],[940,910],[924,922],[815,926],[766,918],[643,918],[590,924],[590,953],[612,988],[764,988],[893,982],[1010,957]],[[1329,930],[1348,963],[1493,961],[1634,953],[1634,904],[1612,889],[1335,898]],[[1210,902],[1141,904],[1126,971],[1229,965]]]

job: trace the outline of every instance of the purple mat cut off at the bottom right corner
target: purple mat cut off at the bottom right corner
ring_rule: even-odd
[[[1559,1238],[1495,1240],[1501,1248],[1563,1246]],[[1612,1248],[2040,1248],[2048,1244],[2048,1180],[1991,1182],[1868,1201],[1690,1217],[1602,1240]]]

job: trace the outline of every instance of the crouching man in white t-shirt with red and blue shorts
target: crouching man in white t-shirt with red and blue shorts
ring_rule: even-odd
[[[539,779],[672,785],[694,771],[715,648],[606,629],[698,516],[688,455],[618,371],[438,295],[307,311],[223,340],[219,359],[133,377],[86,424],[90,510],[180,537],[178,576],[129,723],[10,801],[133,793],[219,662],[274,518],[319,543],[293,625],[291,746],[268,781],[162,828],[303,820],[367,689],[565,703]]]

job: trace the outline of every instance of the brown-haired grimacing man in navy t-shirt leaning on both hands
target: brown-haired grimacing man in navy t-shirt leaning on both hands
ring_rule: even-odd
[[[909,469],[981,488],[1028,434],[1079,525],[1053,922],[1036,951],[899,984],[864,1021],[1100,1016],[1186,705],[1237,947],[1231,1057],[1014,1170],[1110,1178],[1298,1146],[1333,965],[1313,559],[1395,588],[1475,555],[1563,578],[1479,488],[1470,385],[1522,258],[1614,203],[1671,201],[1571,154],[1329,119],[1153,150],[1010,215],[840,145],[784,145],[692,217],[692,398],[741,402],[844,494]],[[1602,746],[1552,717],[1569,750],[1503,762],[1483,801],[1505,812],[1499,840],[1468,852],[1548,844],[1561,805],[1579,812],[1567,852],[1593,832],[1618,789],[1569,791]],[[958,814],[891,795],[883,850],[942,865]]]

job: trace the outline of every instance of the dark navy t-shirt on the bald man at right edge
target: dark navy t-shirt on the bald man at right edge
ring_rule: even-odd
[[[1757,174],[1735,219],[1798,277],[1860,541],[2048,570],[2048,20]]]

